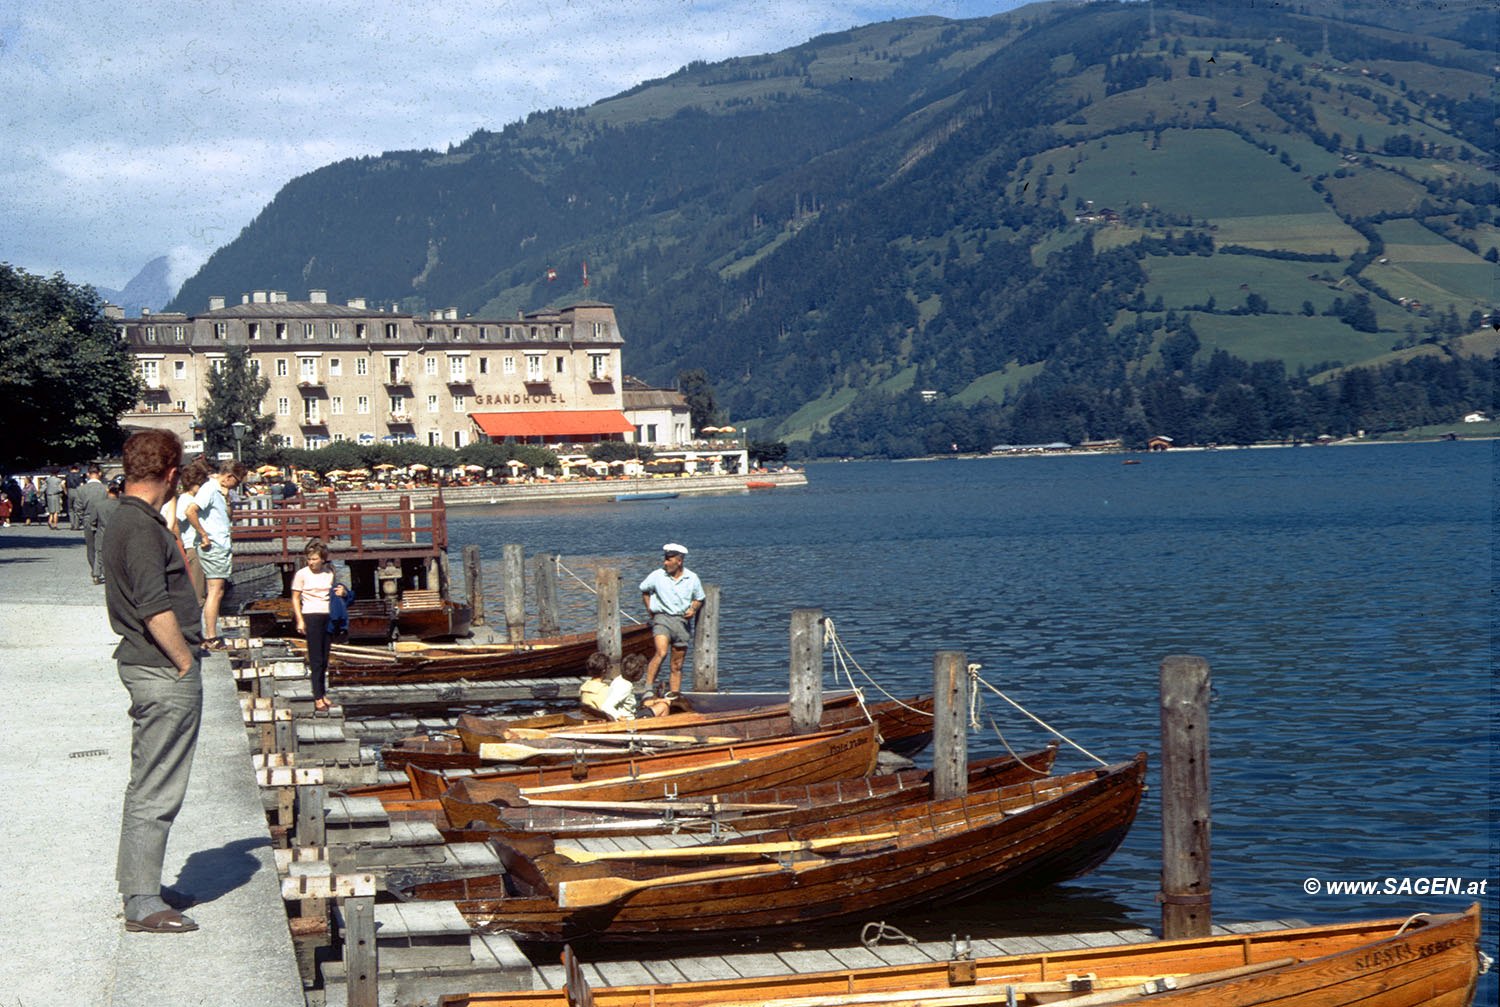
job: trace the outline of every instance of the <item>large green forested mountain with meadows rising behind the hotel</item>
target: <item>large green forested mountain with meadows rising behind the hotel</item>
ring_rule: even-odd
[[[1144,383],[1191,405],[1218,354],[1304,383],[1494,354],[1494,24],[1488,0],[872,24],[298,177],[171,306],[592,297],[633,374],[702,368],[762,434],[918,393],[998,429],[1166,428]]]

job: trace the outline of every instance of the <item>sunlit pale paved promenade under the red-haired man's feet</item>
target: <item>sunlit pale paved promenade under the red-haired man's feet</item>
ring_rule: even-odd
[[[129,705],[81,531],[0,528],[0,1002],[303,1007],[228,660],[204,717],[164,881],[196,933],[126,933],[114,887]]]

